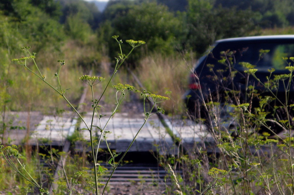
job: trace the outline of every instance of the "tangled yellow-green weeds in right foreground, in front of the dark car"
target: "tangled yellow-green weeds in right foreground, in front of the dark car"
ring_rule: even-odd
[[[260,52],[260,56],[266,55],[266,51]],[[232,81],[235,75],[234,54],[229,51],[222,54],[218,63],[231,69],[226,81]],[[253,76],[271,96],[262,96],[256,89],[258,86],[248,85],[246,80],[245,98],[248,101],[242,103],[242,93],[230,90],[225,82],[216,81],[219,96],[210,96],[209,101],[203,99],[201,109],[209,113],[207,117],[201,118],[198,112],[202,110],[197,109],[195,116],[189,115],[196,121],[195,126],[183,123],[180,126],[180,132],[189,132],[189,138],[195,139],[194,145],[189,145],[191,142],[183,138],[182,145],[175,146],[174,155],[158,156],[162,166],[175,170],[170,174],[173,185],[167,187],[167,194],[175,191],[175,194],[293,194],[293,104],[289,94],[293,89],[294,58],[283,59],[289,74],[274,78],[268,76],[264,82],[255,76],[257,67],[240,63],[246,69],[245,78]],[[216,71],[213,64],[207,66],[218,78],[224,74]],[[275,70],[268,71],[272,73]],[[286,99],[279,99],[275,94],[279,87],[285,87],[283,97]],[[220,94],[224,96],[220,97]],[[222,98],[225,102],[221,101]],[[253,98],[259,98],[258,107],[254,107]],[[279,104],[269,113],[268,107],[274,101]],[[278,116],[281,111],[283,119]],[[274,119],[267,119],[268,114],[272,114]],[[284,131],[275,134],[273,123]],[[208,132],[204,130],[206,128]],[[266,128],[267,132],[260,131],[261,128]],[[162,147],[159,146],[158,150],[161,151]],[[166,151],[166,154],[170,152]],[[182,172],[177,173],[176,170]]]

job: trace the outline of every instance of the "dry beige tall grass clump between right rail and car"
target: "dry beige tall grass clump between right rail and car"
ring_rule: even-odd
[[[166,112],[177,113],[185,109],[182,96],[187,89],[187,79],[192,67],[193,59],[186,61],[181,54],[153,54],[141,60],[137,74],[147,90],[152,89],[170,98],[170,101],[161,104]]]

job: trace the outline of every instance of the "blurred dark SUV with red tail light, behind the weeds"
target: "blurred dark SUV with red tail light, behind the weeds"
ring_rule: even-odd
[[[291,64],[291,60],[285,57],[293,56],[294,35],[252,36],[216,41],[211,50],[199,59],[190,75],[189,90],[184,95],[190,115],[207,120],[209,113],[203,105],[210,101],[220,104],[250,103],[249,109],[254,112],[260,106],[260,100],[268,97],[268,104],[263,108],[267,112],[270,130],[261,126],[261,131],[279,133],[285,130],[273,120],[288,119],[287,112],[281,105],[286,103],[286,99],[287,105],[294,104],[294,83],[290,81],[289,85],[289,79],[284,78],[271,86],[271,90],[266,89],[263,84],[267,83],[268,78],[272,82],[277,75],[283,77],[284,74],[289,74],[290,71],[285,67]],[[258,69],[255,75],[259,80],[246,72],[252,68]],[[258,96],[251,96],[253,93],[250,90],[253,89]],[[275,96],[276,99],[270,98]],[[290,124],[293,124],[293,110],[290,107],[286,109],[290,113]]]

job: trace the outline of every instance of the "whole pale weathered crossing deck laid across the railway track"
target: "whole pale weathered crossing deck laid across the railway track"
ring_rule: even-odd
[[[52,144],[57,146],[64,145],[66,138],[71,136],[76,129],[76,119],[72,119],[72,114],[64,114],[63,116],[43,116],[39,112],[32,113],[12,113],[13,124],[19,129],[9,129],[5,134],[6,143],[30,145]],[[106,113],[100,120],[95,117],[93,126],[101,129],[107,124],[105,131],[106,141],[112,150],[124,152],[129,144],[136,136],[138,130],[144,123],[143,114],[136,113],[116,113],[111,120],[108,121],[111,113]],[[90,126],[91,113],[84,115],[84,120]],[[165,124],[172,130],[173,134],[181,139],[181,144],[188,148],[194,148],[195,144],[201,144],[204,141],[212,141],[211,135],[206,131],[204,126],[193,123],[190,120],[171,120],[165,119]],[[85,124],[81,122],[79,129],[85,128]],[[29,134],[29,140],[26,138]],[[94,127],[93,135],[96,141],[100,137],[100,129]],[[90,134],[88,130],[80,130],[79,139],[89,142]],[[105,139],[101,138],[99,148],[107,149]],[[85,143],[84,142],[84,143]],[[96,142],[97,143],[97,142]],[[81,141],[75,143],[77,150],[82,150]],[[158,151],[159,153],[174,153],[177,150],[173,137],[170,136],[157,115],[151,116],[142,127],[135,142],[129,151]]]

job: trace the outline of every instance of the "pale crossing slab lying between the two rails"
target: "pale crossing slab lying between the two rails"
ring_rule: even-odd
[[[144,115],[132,115],[130,118],[130,116],[126,113],[116,113],[112,119],[108,121],[110,116],[111,113],[108,113],[101,119],[95,118],[93,120],[93,125],[99,126],[103,129],[107,124],[105,131],[109,131],[109,133],[106,134],[108,146],[117,152],[126,151],[129,144],[144,124]],[[91,124],[91,114],[87,113],[84,120],[87,124]],[[81,124],[81,129],[85,127],[86,126],[84,124]],[[81,131],[83,132],[83,137],[86,140],[89,140],[89,132],[87,130]],[[93,134],[99,137],[100,129],[95,128]],[[107,148],[106,141],[102,138],[100,148]],[[129,151],[156,151],[156,147],[154,145],[159,144],[160,142],[170,146],[173,145],[173,140],[166,133],[158,117],[153,115],[141,128]]]

